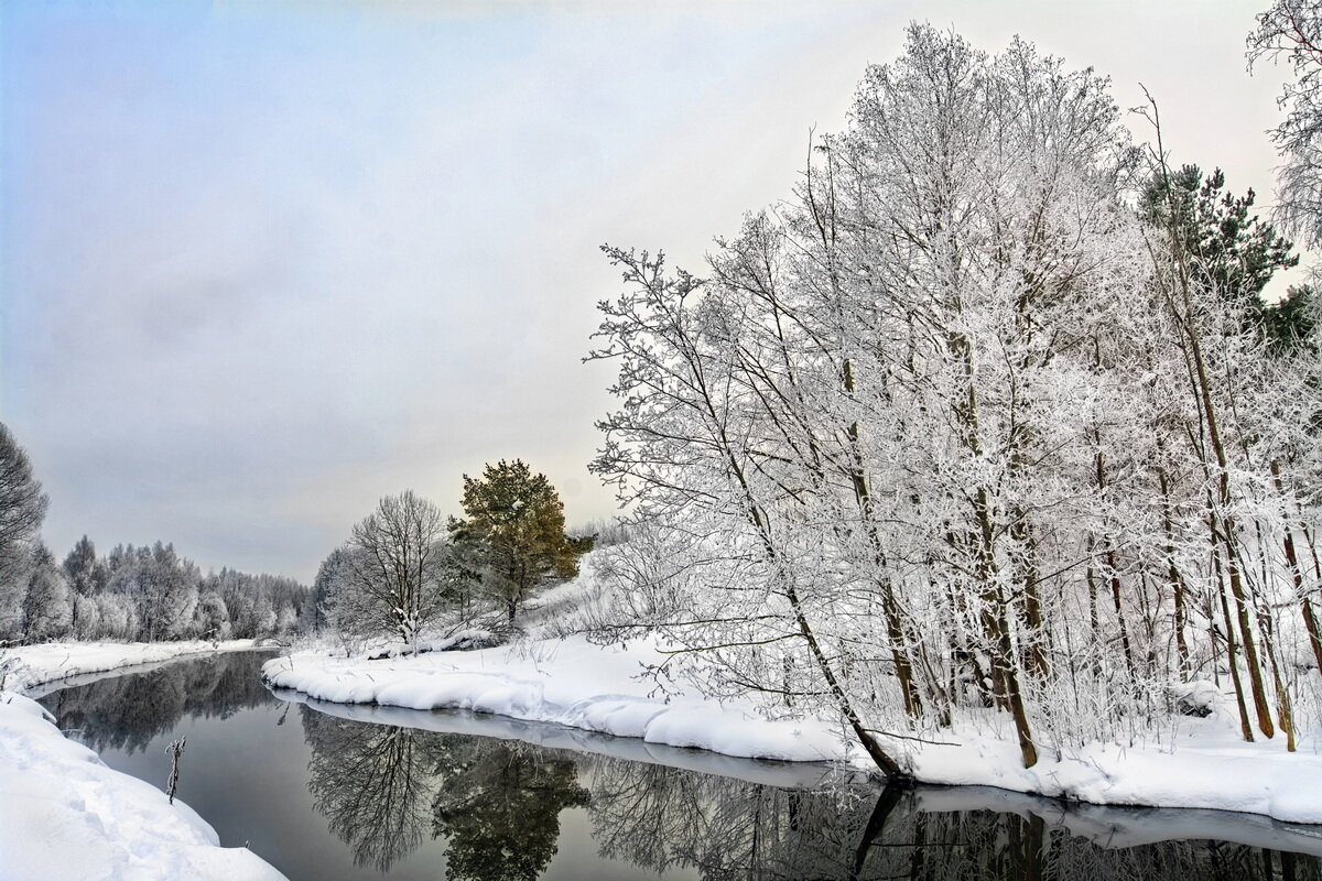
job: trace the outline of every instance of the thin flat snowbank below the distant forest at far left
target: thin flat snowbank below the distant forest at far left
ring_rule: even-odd
[[[40,646],[20,646],[0,651],[0,687],[30,695],[38,686],[71,676],[108,670],[118,671],[120,667],[159,663],[182,655],[246,651],[253,647],[253,639],[226,639],[223,642],[202,639],[184,642],[46,642]],[[59,687],[65,684],[61,683]]]

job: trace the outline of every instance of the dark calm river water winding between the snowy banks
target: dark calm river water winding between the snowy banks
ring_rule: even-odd
[[[825,786],[814,766],[465,713],[287,703],[260,683],[267,656],[178,660],[41,703],[106,763],[157,786],[165,745],[186,737],[180,798],[222,844],[246,841],[293,880],[1322,881],[1319,827]]]

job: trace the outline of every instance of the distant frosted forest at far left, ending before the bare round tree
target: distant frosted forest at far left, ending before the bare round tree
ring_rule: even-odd
[[[0,642],[246,639],[293,630],[307,588],[293,579],[204,575],[173,544],[83,536],[58,561],[40,538],[46,497],[26,452],[0,424]]]

